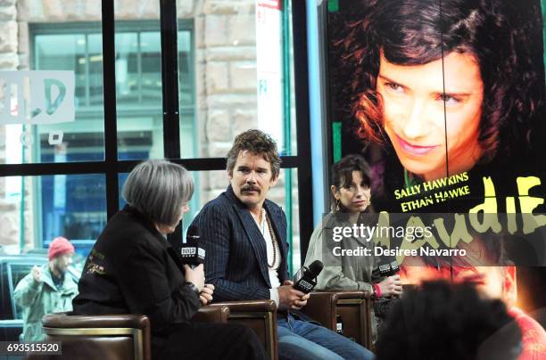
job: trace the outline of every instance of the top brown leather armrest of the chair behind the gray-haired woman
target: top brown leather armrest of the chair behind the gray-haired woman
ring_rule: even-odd
[[[42,317],[42,324],[48,328],[133,328],[150,327],[146,315],[71,315],[71,313],[47,314]]]

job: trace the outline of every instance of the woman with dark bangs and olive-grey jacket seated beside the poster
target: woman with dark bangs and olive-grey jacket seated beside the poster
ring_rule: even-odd
[[[377,258],[373,256],[374,241],[369,233],[364,237],[345,237],[334,240],[334,228],[352,228],[353,225],[375,225],[371,218],[370,168],[360,155],[348,155],[332,167],[332,211],[323,218],[310,238],[305,266],[320,260],[324,264],[318,275],[317,290],[366,290],[374,294],[372,307],[372,340],[377,339],[377,322],[385,321],[392,295],[401,295],[400,275],[372,279]],[[339,250],[335,250],[339,247]],[[369,256],[343,256],[341,250],[367,248]],[[336,256],[335,254],[339,256]],[[374,311],[376,309],[377,311]],[[377,314],[376,314],[377,313]],[[380,317],[377,318],[376,315]],[[385,316],[383,316],[385,315]]]

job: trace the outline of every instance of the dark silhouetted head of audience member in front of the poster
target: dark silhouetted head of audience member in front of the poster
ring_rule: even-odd
[[[520,351],[521,331],[500,299],[446,281],[407,290],[376,344],[377,360],[515,360]]]

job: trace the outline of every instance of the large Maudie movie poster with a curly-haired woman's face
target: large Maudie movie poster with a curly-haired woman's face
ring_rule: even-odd
[[[343,156],[371,168],[382,215],[370,224],[426,229],[410,241],[376,236],[376,246],[398,251],[413,281],[428,270],[454,278],[474,266],[546,265],[540,1],[333,3],[329,120]],[[466,255],[440,251],[454,249]]]

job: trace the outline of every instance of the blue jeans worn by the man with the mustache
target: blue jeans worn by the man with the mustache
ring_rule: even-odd
[[[373,359],[367,348],[315,323],[288,315],[277,318],[280,359]]]

